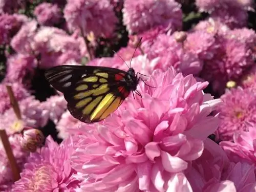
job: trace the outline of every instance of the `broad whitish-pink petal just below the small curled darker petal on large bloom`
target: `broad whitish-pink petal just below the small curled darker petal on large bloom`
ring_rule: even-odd
[[[161,151],[161,158],[162,158],[163,168],[167,172],[177,173],[187,168],[186,161],[183,161],[179,157],[173,157],[164,151]]]

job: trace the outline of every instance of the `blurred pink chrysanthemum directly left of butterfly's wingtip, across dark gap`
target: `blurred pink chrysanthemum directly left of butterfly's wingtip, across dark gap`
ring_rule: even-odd
[[[29,87],[37,67],[36,58],[32,55],[16,54],[7,60],[5,82],[19,82]]]

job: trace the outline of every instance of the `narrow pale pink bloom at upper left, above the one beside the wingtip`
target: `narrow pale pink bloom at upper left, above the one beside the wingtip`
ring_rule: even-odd
[[[37,25],[38,23],[36,20],[31,20],[30,22],[24,24],[18,33],[12,38],[11,46],[16,52],[22,54],[32,54],[33,47],[31,44],[38,28]]]

